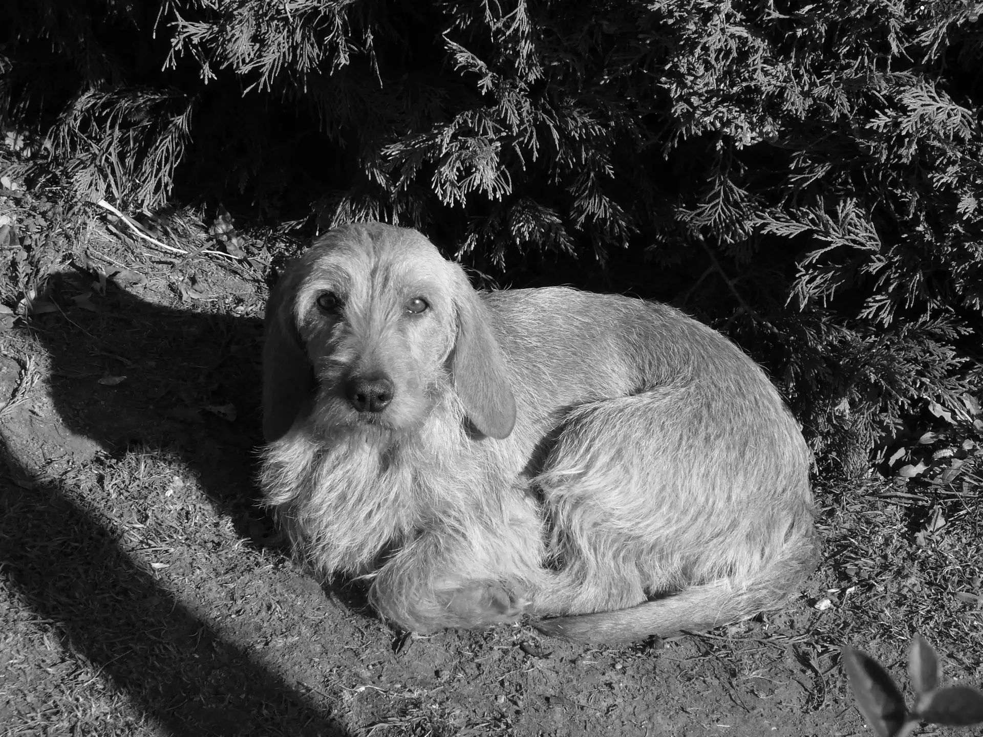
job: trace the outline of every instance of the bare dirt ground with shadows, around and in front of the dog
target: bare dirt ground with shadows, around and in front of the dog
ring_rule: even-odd
[[[838,548],[783,612],[625,648],[528,624],[402,636],[319,586],[256,505],[260,272],[121,259],[129,283],[63,259],[55,309],[0,333],[0,733],[871,733],[838,647],[901,674],[905,639],[845,605]]]

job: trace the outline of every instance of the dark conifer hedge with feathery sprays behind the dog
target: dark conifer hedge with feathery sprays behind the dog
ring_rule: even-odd
[[[671,302],[856,474],[983,425],[981,40],[942,0],[7,0],[0,123],[66,233],[379,219],[487,285]]]

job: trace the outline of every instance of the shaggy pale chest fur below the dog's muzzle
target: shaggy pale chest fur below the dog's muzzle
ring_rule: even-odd
[[[264,501],[321,574],[370,573],[384,550],[455,501],[437,496],[459,480],[424,482],[417,471],[430,468],[435,476],[455,468],[439,459],[464,443],[463,414],[447,385],[434,386],[424,400],[426,411],[413,425],[359,422],[359,413],[321,387],[314,411],[263,449]]]

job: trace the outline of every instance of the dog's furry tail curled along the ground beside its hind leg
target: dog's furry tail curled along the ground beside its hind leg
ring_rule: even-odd
[[[816,541],[803,537],[786,545],[780,557],[747,583],[722,578],[627,609],[542,619],[534,626],[551,637],[582,643],[627,643],[710,630],[778,607],[815,570],[818,559]]]

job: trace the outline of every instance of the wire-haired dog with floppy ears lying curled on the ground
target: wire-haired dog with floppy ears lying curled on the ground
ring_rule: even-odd
[[[667,636],[774,607],[814,565],[798,426],[665,305],[480,293],[420,233],[353,225],[276,285],[263,372],[266,503],[405,628]]]

